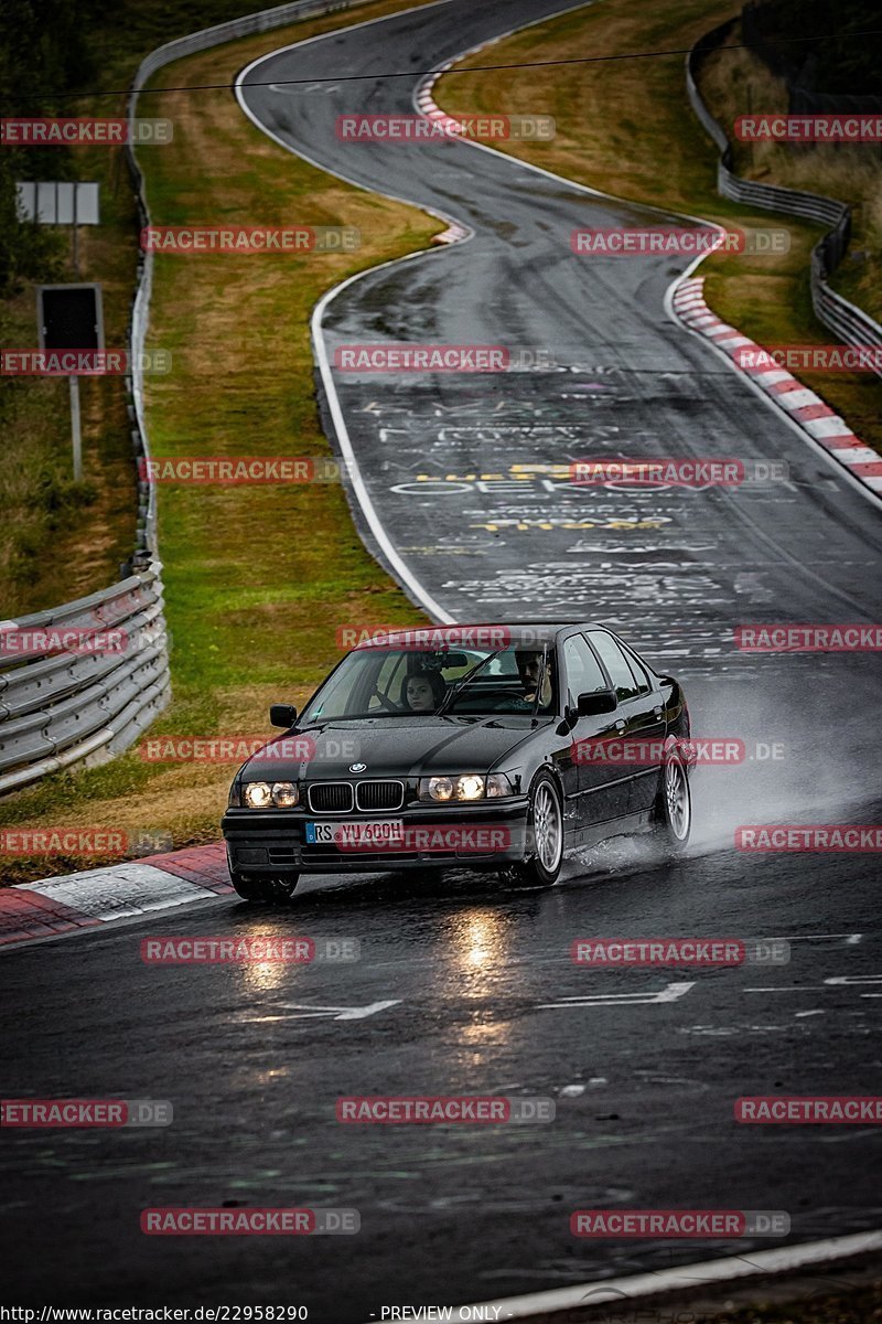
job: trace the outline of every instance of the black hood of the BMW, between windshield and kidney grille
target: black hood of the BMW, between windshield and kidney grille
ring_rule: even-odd
[[[328,722],[268,741],[242,771],[249,781],[491,772],[550,720],[534,727],[529,714],[496,714]]]

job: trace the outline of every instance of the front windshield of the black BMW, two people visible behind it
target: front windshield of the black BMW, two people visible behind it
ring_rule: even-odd
[[[304,722],[439,714],[550,712],[553,651],[506,649],[357,649],[303,714]]]

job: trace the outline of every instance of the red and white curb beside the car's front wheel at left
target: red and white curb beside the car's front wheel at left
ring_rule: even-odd
[[[0,888],[0,949],[231,892],[223,842]]]

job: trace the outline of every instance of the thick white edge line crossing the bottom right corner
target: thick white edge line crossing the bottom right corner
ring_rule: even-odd
[[[475,1319],[512,1320],[528,1319],[532,1315],[543,1317],[555,1311],[573,1311],[588,1304],[645,1299],[660,1292],[684,1291],[739,1278],[783,1274],[792,1268],[834,1263],[837,1259],[878,1250],[882,1250],[882,1230],[852,1233],[846,1237],[828,1237],[819,1242],[803,1242],[799,1246],[751,1251],[750,1258],[727,1255],[725,1259],[706,1259],[698,1264],[682,1264],[680,1268],[660,1268],[652,1274],[635,1274],[631,1278],[607,1278],[600,1283],[574,1283],[571,1287],[555,1287],[549,1292],[505,1296],[459,1308],[473,1311]],[[479,1309],[483,1315],[477,1313]]]

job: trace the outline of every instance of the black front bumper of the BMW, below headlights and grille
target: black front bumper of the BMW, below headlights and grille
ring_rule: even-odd
[[[307,822],[357,822],[358,814],[313,814],[304,809],[227,809],[221,821],[230,873],[254,878],[280,874],[365,874],[398,869],[500,869],[526,854],[526,796],[480,805],[419,805],[394,814],[399,846],[309,845]]]

